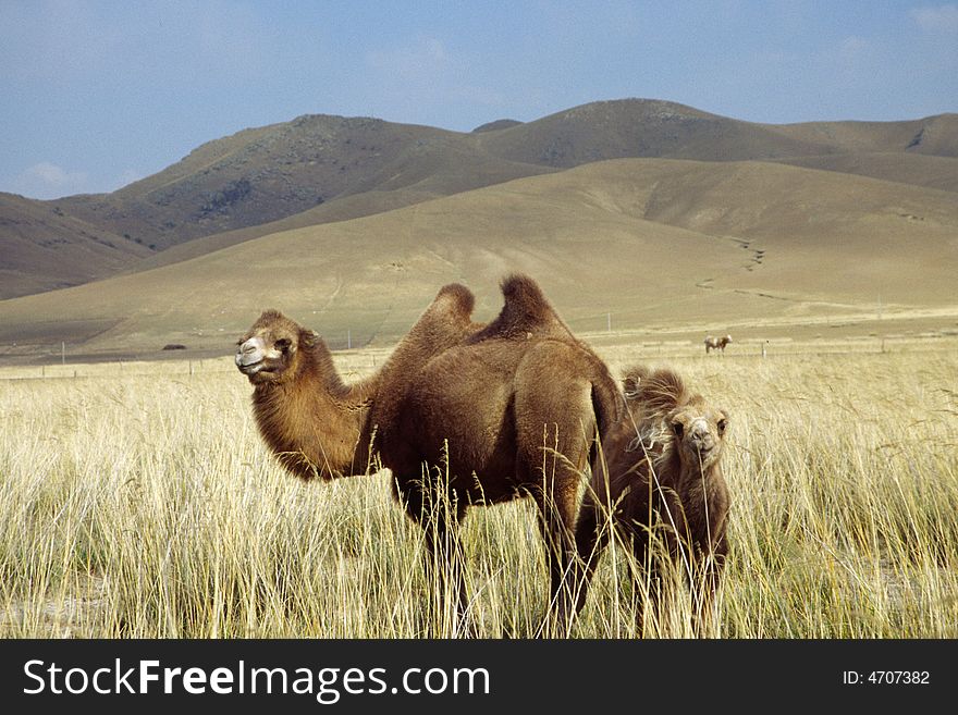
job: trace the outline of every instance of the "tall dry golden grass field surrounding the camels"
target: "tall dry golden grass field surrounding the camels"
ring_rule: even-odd
[[[958,637],[958,341],[593,344],[672,365],[732,415],[720,638]],[[363,374],[385,352],[346,352]],[[74,377],[75,374],[75,377]],[[420,638],[421,535],[388,474],[303,484],[260,444],[226,359],[0,369],[0,634]],[[530,637],[532,506],[476,508],[479,634]],[[573,636],[635,636],[621,547]],[[647,636],[691,634],[681,602]]]

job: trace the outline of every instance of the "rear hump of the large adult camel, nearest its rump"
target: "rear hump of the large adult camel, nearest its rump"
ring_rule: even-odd
[[[491,338],[572,338],[572,332],[531,278],[513,273],[503,279],[501,287],[504,299],[502,310],[495,320],[472,335],[469,343]]]

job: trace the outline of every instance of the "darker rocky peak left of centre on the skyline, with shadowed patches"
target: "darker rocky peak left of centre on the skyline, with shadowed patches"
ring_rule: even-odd
[[[445,195],[540,171],[513,163],[477,152],[468,135],[376,119],[307,115],[210,141],[109,196],[62,204],[76,215],[138,231],[168,248],[366,192],[431,182]],[[360,208],[349,218],[368,212]]]

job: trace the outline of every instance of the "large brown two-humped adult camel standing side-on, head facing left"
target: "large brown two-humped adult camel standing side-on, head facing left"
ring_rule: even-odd
[[[293,473],[367,473],[379,453],[395,496],[425,529],[427,564],[439,562],[456,597],[456,629],[468,604],[458,522],[470,505],[532,495],[550,625],[564,629],[580,574],[573,530],[581,469],[597,435],[618,420],[621,393],[535,281],[513,275],[502,292],[499,317],[480,325],[467,288],[442,288],[380,372],[354,385],[340,380],[315,333],[274,311],[241,338],[236,363],[256,386],[263,439]]]

